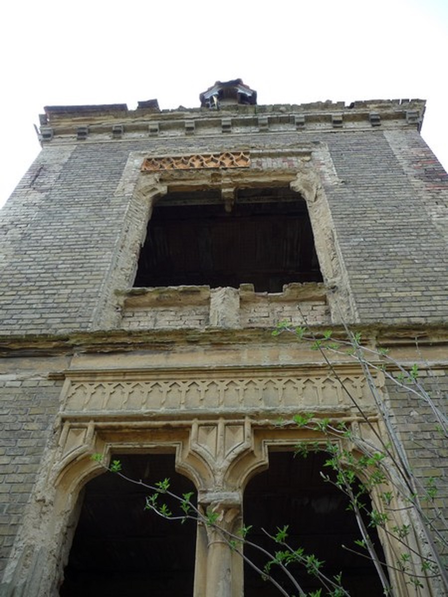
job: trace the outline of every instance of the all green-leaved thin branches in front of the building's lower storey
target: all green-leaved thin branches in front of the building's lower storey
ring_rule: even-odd
[[[447,438],[447,418],[424,388],[418,366],[402,367],[389,356],[387,349],[365,346],[360,334],[353,334],[348,328],[345,338],[335,339],[330,330],[317,337],[306,327],[291,327],[288,322],[281,322],[273,335],[282,333],[293,333],[299,341],[309,343],[312,350],[323,355],[332,377],[340,383],[357,412],[356,423],[337,418],[332,420],[311,412],[297,413],[291,420],[276,422],[280,427],[295,427],[300,431],[300,440],[295,448],[297,457],[305,458],[311,451],[327,454],[320,475],[345,495],[360,533],[354,544],[341,545],[340,548],[373,562],[384,595],[395,594],[391,579],[396,581],[397,578],[413,587],[416,595],[432,594],[429,586],[434,581],[445,587],[442,591],[448,592],[442,556],[448,549],[448,525],[438,500],[440,480],[434,476],[423,480],[415,474],[395,431],[389,405],[376,386],[375,377],[381,371],[407,395],[429,407],[434,419],[434,436]],[[339,361],[341,355],[352,359],[361,367],[387,439],[340,378],[332,354],[337,355]],[[369,433],[363,433],[363,428]],[[427,445],[426,448],[437,451],[437,445]],[[106,466],[102,454],[94,454],[93,458]],[[147,488],[149,493],[145,507],[158,516],[179,523],[194,519],[215,531],[229,549],[237,552],[248,566],[271,582],[285,597],[349,597],[350,593],[343,586],[342,572],[329,576],[325,562],[319,559],[318,554],[307,553],[302,547],[290,544],[289,525],[274,532],[263,529],[272,541],[272,549],[268,550],[251,540],[251,527],[243,525],[237,534],[230,533],[223,528],[217,509],[209,507],[202,510],[201,506],[195,505],[192,493],[182,496],[172,493],[169,479],[146,484],[128,478],[119,460],[112,460],[106,468],[131,483]],[[388,544],[387,561],[376,547],[373,539],[376,532]],[[244,547],[262,553],[265,558],[263,567],[247,557]],[[303,567],[318,581],[320,588],[306,592],[294,575],[293,565]],[[288,579],[292,592],[279,581],[278,571]]]

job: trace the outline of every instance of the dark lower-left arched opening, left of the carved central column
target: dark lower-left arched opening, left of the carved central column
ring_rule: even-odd
[[[173,493],[195,491],[173,454],[117,455],[131,479],[170,478]],[[188,597],[193,594],[196,525],[145,510],[151,492],[107,472],[88,482],[61,597]],[[173,512],[179,509],[166,500]]]

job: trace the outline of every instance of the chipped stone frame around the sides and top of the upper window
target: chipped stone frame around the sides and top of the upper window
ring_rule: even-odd
[[[331,158],[327,156],[329,152],[323,147],[314,150],[304,146],[299,149],[251,150],[249,153],[251,158],[257,158],[253,159],[250,167],[167,170],[156,173],[140,170],[144,159],[148,157],[147,152],[130,153],[116,189],[116,195],[130,195],[127,223],[116,251],[112,283],[106,290],[105,299],[97,307],[96,327],[119,327],[127,292],[133,287],[136,277],[140,248],[145,241],[148,221],[163,195],[182,190],[220,189],[223,201],[226,202],[233,196],[235,188],[254,186],[289,186],[305,199],[315,250],[327,289],[331,321],[358,321],[321,179],[325,174],[326,184],[337,184]],[[275,167],[277,162],[288,163],[289,158],[294,162],[293,165]],[[267,165],[260,167],[254,165],[255,162]],[[108,305],[112,308],[108,309]]]

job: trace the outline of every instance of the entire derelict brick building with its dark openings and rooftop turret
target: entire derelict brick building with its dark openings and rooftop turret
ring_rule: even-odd
[[[348,326],[443,395],[448,183],[420,136],[425,102],[256,96],[237,79],[194,109],[45,108],[42,151],[0,221],[0,595],[277,594],[213,528],[145,512],[148,491],[92,454],[170,478],[262,544],[261,528],[290,524],[352,597],[382,589],[341,547],[357,527],[321,479],[324,453],[294,458],[324,436],[289,421],[314,413],[383,438],[389,425],[446,499],[419,396],[376,368],[385,422],[349,353],[329,371],[294,334],[272,336],[280,321],[317,337]],[[418,522],[398,516],[426,553]],[[389,531],[377,540],[393,595],[443,595],[425,571],[407,581]]]

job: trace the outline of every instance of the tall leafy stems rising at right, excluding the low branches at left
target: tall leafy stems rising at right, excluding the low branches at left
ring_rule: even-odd
[[[440,410],[421,381],[419,367],[403,367],[389,355],[383,347],[369,347],[363,343],[360,333],[352,333],[344,325],[345,337],[333,337],[332,330],[324,331],[320,336],[305,326],[293,327],[287,321],[280,322],[272,332],[273,336],[291,333],[297,340],[308,343],[311,350],[321,353],[333,378],[342,387],[361,421],[361,426],[369,429],[369,439],[363,437],[344,422],[329,418],[316,417],[312,413],[300,413],[293,417],[293,423],[300,429],[323,433],[326,438],[324,449],[330,454],[326,466],[336,474],[336,480],[321,472],[327,482],[332,482],[349,498],[350,507],[356,517],[361,532],[357,547],[367,553],[375,564],[385,594],[392,592],[388,577],[383,573],[384,562],[380,562],[375,547],[369,538],[369,527],[382,530],[384,536],[392,541],[394,562],[388,562],[386,568],[400,573],[407,583],[425,590],[426,581],[437,578],[448,592],[448,576],[443,555],[448,550],[448,523],[438,500],[438,483],[441,479],[434,476],[420,478],[416,475],[403,442],[394,426],[394,415],[376,385],[376,376],[382,373],[406,395],[415,399],[416,404],[425,405],[432,415],[432,433],[434,444],[428,440],[425,449],[440,457],[440,444],[448,438],[448,420]],[[418,346],[417,346],[418,347]],[[372,423],[364,412],[360,401],[348,389],[340,377],[336,360],[342,356],[361,367],[367,381],[370,395],[373,397],[377,412],[386,430],[387,438],[379,433],[378,426]],[[278,424],[290,424],[278,421]],[[438,441],[439,440],[439,441]],[[441,440],[441,441],[440,441]],[[422,445],[414,439],[416,446]],[[297,450],[305,456],[309,450],[322,450],[319,442],[300,442]],[[363,496],[370,496],[372,510],[367,511]],[[369,523],[363,522],[362,514]],[[348,546],[344,546],[345,549]]]

